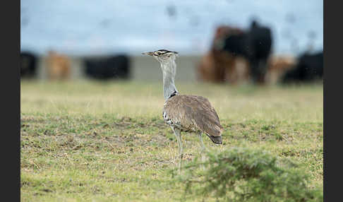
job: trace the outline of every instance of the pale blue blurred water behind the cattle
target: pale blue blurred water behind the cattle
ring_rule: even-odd
[[[323,49],[323,0],[21,0],[20,14],[21,49],[38,54],[203,54],[217,25],[254,17],[272,28],[276,54]]]

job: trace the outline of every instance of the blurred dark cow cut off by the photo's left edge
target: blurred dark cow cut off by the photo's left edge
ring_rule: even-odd
[[[20,52],[20,78],[33,78],[36,75],[37,57],[31,52]]]

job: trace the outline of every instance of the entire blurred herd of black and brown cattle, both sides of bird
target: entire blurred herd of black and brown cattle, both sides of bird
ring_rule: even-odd
[[[272,55],[272,32],[253,21],[248,30],[219,26],[210,51],[196,65],[198,79],[216,83],[294,83],[323,79],[323,51],[303,53],[299,57]],[[44,60],[51,80],[71,77],[71,59],[49,51]],[[83,58],[83,73],[95,79],[131,77],[131,57]],[[38,59],[30,52],[20,52],[20,77],[37,75]]]

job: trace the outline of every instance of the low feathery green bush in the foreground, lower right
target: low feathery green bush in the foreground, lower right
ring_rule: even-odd
[[[174,174],[175,174],[174,170]],[[263,150],[231,148],[207,153],[183,167],[178,178],[185,196],[223,201],[323,201],[323,191],[308,189],[308,175],[290,161],[279,162]]]

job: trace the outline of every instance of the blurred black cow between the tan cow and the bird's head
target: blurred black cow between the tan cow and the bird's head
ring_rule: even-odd
[[[85,59],[85,73],[90,78],[111,79],[130,77],[130,61],[126,55],[105,59]]]

